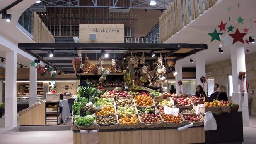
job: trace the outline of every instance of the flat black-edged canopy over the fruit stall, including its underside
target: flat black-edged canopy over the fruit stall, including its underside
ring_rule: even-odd
[[[123,66],[126,67],[127,59],[131,55],[133,57],[142,57],[143,52],[145,54],[145,64],[147,65],[150,62],[155,62],[160,54],[165,59],[179,60],[207,49],[206,44],[186,43],[19,43],[18,47],[38,57],[53,68],[58,68],[63,73],[74,73],[72,59],[78,57],[77,50],[82,50],[82,53],[86,52],[89,61],[92,63],[98,63],[101,50],[106,50],[109,57],[106,58],[105,64],[111,64],[111,59],[116,56],[118,60],[123,61]],[[54,56],[51,58],[47,54],[49,51],[54,53]],[[151,56],[151,51],[154,51],[155,57]],[[85,54],[82,55],[82,58],[84,57]],[[140,67],[142,65],[138,66],[138,68]]]

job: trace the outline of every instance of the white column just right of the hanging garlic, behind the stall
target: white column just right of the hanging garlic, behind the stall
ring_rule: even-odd
[[[182,63],[181,61],[176,61],[175,64],[175,71],[178,73],[175,76],[175,88],[176,88],[176,94],[180,93],[180,88],[181,88],[181,93],[183,93],[183,87],[179,86],[178,81],[182,81]]]

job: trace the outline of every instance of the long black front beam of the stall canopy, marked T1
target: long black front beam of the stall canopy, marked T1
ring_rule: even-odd
[[[95,50],[95,48],[99,48],[99,50],[106,50],[108,48],[111,48],[110,50],[179,50],[181,48],[207,49],[206,44],[186,43],[19,43],[18,47],[24,50]]]

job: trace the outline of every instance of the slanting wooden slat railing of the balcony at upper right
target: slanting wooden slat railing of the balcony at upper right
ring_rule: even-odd
[[[160,43],[168,40],[216,2],[217,0],[174,0],[170,7],[159,17]]]

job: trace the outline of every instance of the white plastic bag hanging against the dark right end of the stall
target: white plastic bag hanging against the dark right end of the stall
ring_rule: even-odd
[[[205,113],[205,124],[204,124],[205,131],[207,130],[217,130],[217,123],[215,118],[213,117],[213,113],[208,111]]]

